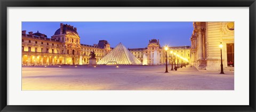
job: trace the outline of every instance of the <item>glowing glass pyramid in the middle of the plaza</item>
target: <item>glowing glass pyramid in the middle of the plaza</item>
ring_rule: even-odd
[[[126,47],[119,43],[105,57],[97,62],[97,65],[142,65],[142,63]]]

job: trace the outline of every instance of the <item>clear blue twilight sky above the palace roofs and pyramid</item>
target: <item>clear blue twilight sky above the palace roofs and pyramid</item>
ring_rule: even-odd
[[[111,47],[122,43],[127,48],[143,48],[149,39],[159,39],[160,45],[190,45],[193,22],[22,22],[22,30],[51,38],[60,23],[77,27],[82,44],[98,44],[105,39]]]

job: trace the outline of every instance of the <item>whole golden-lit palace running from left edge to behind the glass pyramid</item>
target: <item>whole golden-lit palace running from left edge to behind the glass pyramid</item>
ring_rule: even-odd
[[[80,43],[80,38],[76,27],[63,23],[60,23],[60,28],[55,31],[51,38],[39,33],[39,31],[37,33],[30,31],[27,34],[26,30],[22,30],[22,66],[88,65],[91,52],[95,52],[95,58],[99,62],[103,57],[107,57],[111,50],[115,49],[110,47],[106,40],[100,40],[98,44],[86,45]],[[145,48],[128,48],[127,52],[133,54],[143,65],[163,65],[166,59],[163,47],[159,44],[159,40],[151,39]],[[186,62],[190,62],[190,46],[169,46],[167,51],[168,64],[172,62],[170,51],[187,59]],[[115,54],[115,52],[111,54]],[[175,57],[173,57],[173,62],[177,63]],[[180,60],[180,62],[185,63],[184,60]],[[97,64],[105,65],[106,63]],[[132,63],[121,64],[132,65]]]

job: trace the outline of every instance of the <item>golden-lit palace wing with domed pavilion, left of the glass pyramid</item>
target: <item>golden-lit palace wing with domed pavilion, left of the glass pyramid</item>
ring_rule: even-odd
[[[60,23],[60,28],[51,38],[38,31],[26,34],[23,30],[22,65],[86,65],[92,51],[97,61],[111,51],[110,44],[105,40],[99,41],[100,46],[81,44],[76,30],[73,26]]]

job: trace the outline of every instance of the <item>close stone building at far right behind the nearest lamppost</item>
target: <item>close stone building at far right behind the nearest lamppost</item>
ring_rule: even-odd
[[[221,42],[223,67],[234,67],[234,22],[194,22],[193,26],[192,65],[199,70],[220,70]]]

